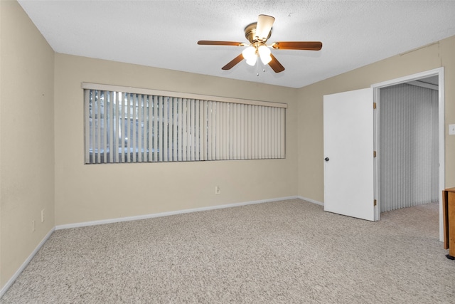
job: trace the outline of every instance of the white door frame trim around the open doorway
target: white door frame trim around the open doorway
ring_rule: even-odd
[[[382,83],[371,85],[373,88],[373,101],[377,105],[377,110],[374,114],[374,148],[378,152],[378,157],[375,162],[375,197],[378,204],[375,206],[375,221],[380,220],[380,193],[379,193],[379,162],[380,162],[380,147],[379,147],[379,115],[380,115],[380,89],[400,83],[408,83],[412,80],[427,78],[430,76],[438,76],[438,124],[439,124],[439,241],[444,241],[444,226],[442,220],[442,191],[445,189],[445,122],[444,122],[444,67],[427,70],[421,73],[407,75],[392,80],[387,80]]]

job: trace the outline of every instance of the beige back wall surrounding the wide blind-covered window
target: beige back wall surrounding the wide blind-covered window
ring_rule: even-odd
[[[82,82],[288,103],[287,157],[83,164]],[[296,97],[292,88],[55,54],[56,224],[295,196]]]

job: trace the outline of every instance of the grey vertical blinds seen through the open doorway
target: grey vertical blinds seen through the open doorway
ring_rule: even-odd
[[[439,201],[438,91],[380,89],[380,206],[390,211]]]

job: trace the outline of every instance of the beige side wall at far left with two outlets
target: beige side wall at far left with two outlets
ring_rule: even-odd
[[[54,52],[16,1],[0,5],[2,288],[55,226]]]

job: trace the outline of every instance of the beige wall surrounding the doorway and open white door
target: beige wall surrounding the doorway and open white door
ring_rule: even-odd
[[[323,202],[323,95],[370,85],[444,66],[446,187],[455,186],[455,36],[387,58],[299,89],[299,196]]]

